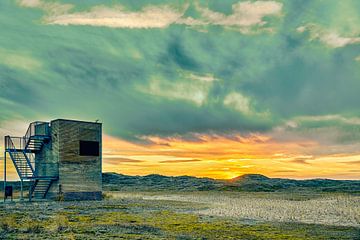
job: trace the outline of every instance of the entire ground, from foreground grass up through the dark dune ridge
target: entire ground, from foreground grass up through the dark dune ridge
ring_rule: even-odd
[[[360,240],[360,181],[105,173],[103,185],[100,202],[0,204],[0,239]]]

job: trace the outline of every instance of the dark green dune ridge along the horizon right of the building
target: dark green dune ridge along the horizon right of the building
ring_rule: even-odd
[[[104,173],[103,185],[109,191],[227,191],[227,192],[339,192],[360,194],[360,181],[268,178],[247,174],[232,180],[215,180],[190,176],[127,176]]]

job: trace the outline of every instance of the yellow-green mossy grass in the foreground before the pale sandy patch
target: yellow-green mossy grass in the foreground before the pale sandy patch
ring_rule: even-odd
[[[351,226],[243,221],[199,214],[211,209],[209,202],[203,203],[206,196],[209,201],[216,200],[211,193],[174,193],[167,198],[157,193],[109,193],[109,199],[102,202],[0,205],[0,239],[320,240],[360,236],[360,229]]]

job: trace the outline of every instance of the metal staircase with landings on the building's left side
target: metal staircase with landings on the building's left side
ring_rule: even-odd
[[[46,198],[57,176],[39,176],[34,155],[50,141],[49,123],[33,122],[24,137],[5,136],[5,152],[9,153],[21,182],[31,181],[29,200]]]

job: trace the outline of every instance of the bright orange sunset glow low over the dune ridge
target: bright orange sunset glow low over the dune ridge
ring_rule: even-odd
[[[264,135],[248,137],[198,135],[196,140],[148,137],[135,144],[105,135],[103,172],[128,175],[190,175],[231,179],[247,173],[286,178],[360,178],[360,154],[310,153],[321,146],[314,141],[276,142]],[[10,159],[9,159],[10,160]],[[16,179],[8,161],[8,179]],[[3,161],[0,163],[3,168]]]

